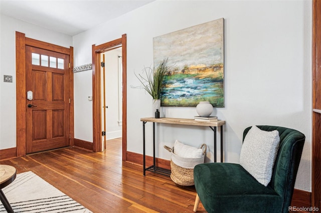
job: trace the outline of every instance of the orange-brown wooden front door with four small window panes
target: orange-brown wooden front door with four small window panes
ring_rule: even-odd
[[[26,46],[27,153],[70,145],[69,55]]]

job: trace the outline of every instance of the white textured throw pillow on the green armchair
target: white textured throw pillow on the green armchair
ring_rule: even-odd
[[[264,131],[255,125],[244,138],[240,165],[264,186],[267,186],[271,180],[279,143],[278,130]]]

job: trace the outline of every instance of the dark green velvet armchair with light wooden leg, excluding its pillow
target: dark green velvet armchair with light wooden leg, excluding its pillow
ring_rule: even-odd
[[[264,186],[237,163],[198,164],[194,168],[195,212],[200,200],[208,212],[288,212],[305,136],[280,126],[257,127],[279,132],[270,182]],[[250,128],[244,130],[243,141]]]

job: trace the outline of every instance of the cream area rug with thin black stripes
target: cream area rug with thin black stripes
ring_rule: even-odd
[[[3,188],[17,212],[91,212],[44,179],[27,171]],[[0,202],[0,212],[7,212]]]

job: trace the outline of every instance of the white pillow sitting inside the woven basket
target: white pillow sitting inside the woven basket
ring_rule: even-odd
[[[202,148],[186,145],[178,140],[174,143],[174,153],[181,157],[198,158],[203,156]]]

